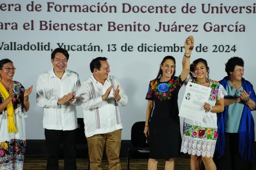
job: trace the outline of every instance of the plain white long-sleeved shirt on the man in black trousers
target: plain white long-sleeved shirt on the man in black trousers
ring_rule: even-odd
[[[78,74],[65,70],[58,78],[53,69],[39,75],[36,86],[36,101],[43,107],[43,127],[53,130],[74,130],[77,128],[77,110],[79,99],[72,103],[58,105],[58,99],[80,87]]]

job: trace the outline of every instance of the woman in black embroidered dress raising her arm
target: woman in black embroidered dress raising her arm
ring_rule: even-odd
[[[149,89],[146,95],[148,104],[144,129],[150,147],[149,170],[157,169],[158,159],[165,159],[165,169],[173,170],[174,157],[180,153],[181,134],[177,99],[179,89],[189,74],[193,44],[194,40],[192,36],[186,38],[182,72],[178,77],[174,76],[174,57],[166,56],[160,64],[157,77],[149,83]]]

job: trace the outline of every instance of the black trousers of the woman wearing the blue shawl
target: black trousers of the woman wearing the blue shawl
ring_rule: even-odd
[[[241,158],[239,154],[239,134],[225,133],[224,155],[214,157],[217,170],[252,170],[252,163]]]

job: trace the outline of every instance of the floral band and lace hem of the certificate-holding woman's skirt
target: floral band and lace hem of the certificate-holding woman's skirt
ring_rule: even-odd
[[[217,128],[190,125],[185,122],[183,127],[181,152],[213,157],[217,140]]]

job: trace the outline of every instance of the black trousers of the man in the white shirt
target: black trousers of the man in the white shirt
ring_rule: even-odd
[[[59,170],[58,158],[60,144],[63,143],[64,168],[76,170],[76,129],[49,130],[45,129],[46,147],[48,149],[47,170]]]

